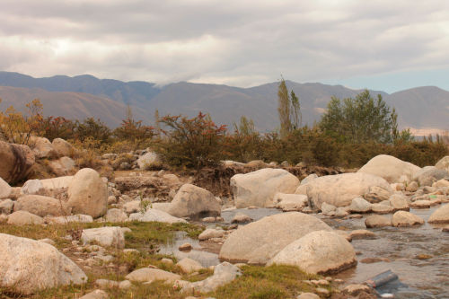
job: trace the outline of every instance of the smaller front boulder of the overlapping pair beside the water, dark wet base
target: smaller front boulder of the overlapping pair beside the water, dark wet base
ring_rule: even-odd
[[[356,251],[337,233],[316,231],[288,244],[269,264],[292,265],[307,273],[329,274],[357,264]]]

